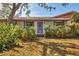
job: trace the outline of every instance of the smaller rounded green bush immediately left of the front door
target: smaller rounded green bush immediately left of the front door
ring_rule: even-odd
[[[22,37],[26,40],[35,40],[36,39],[36,34],[35,34],[35,30],[33,27],[30,27],[30,26],[26,26],[24,29],[23,29],[23,32],[22,32]]]

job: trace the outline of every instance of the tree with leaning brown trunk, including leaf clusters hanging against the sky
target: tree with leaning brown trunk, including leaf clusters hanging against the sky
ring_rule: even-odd
[[[54,9],[54,10],[56,9],[56,7],[48,6],[48,4],[46,4],[46,3],[38,3],[38,5],[49,11],[51,11],[52,9]],[[62,5],[66,6],[67,3],[63,3]],[[12,19],[18,9],[20,10],[19,14],[21,14],[23,11],[25,11],[25,13],[29,16],[29,13],[30,13],[30,10],[26,10],[26,8],[28,9],[28,3],[5,3],[5,4],[2,4],[2,7],[3,7],[2,10],[4,10],[4,11],[7,8],[10,10],[10,11],[6,10],[6,12],[4,12],[6,14],[2,15],[2,16],[4,16],[4,15],[8,16],[9,23],[12,23]]]

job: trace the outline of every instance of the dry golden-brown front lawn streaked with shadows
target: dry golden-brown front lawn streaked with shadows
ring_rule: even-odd
[[[1,56],[61,56],[78,55],[79,39],[45,39],[23,42],[21,47],[0,52]]]

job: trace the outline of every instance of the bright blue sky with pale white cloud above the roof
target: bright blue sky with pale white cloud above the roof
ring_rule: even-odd
[[[62,6],[61,3],[48,3],[48,5],[52,7],[56,7],[56,10],[52,10],[51,12],[49,12],[45,8],[39,7],[37,3],[29,4],[29,9],[31,10],[30,16],[45,17],[45,16],[55,16],[70,11],[79,12],[79,3],[70,3],[67,7]]]

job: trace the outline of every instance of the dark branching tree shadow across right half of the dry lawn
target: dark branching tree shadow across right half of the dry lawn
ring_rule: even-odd
[[[73,48],[73,49],[78,49],[79,50],[79,46],[73,43],[68,43],[69,45],[63,45],[62,43],[42,43],[42,42],[38,42],[35,41],[37,44],[42,45],[43,46],[43,53],[42,56],[46,56],[47,55],[47,49],[50,48],[51,51],[51,55],[54,55],[53,52],[58,53],[59,55],[62,56],[66,56],[68,55],[75,55],[75,56],[79,56],[79,52],[72,52],[72,51],[68,51],[66,50],[66,48]],[[63,48],[63,49],[62,49]]]

